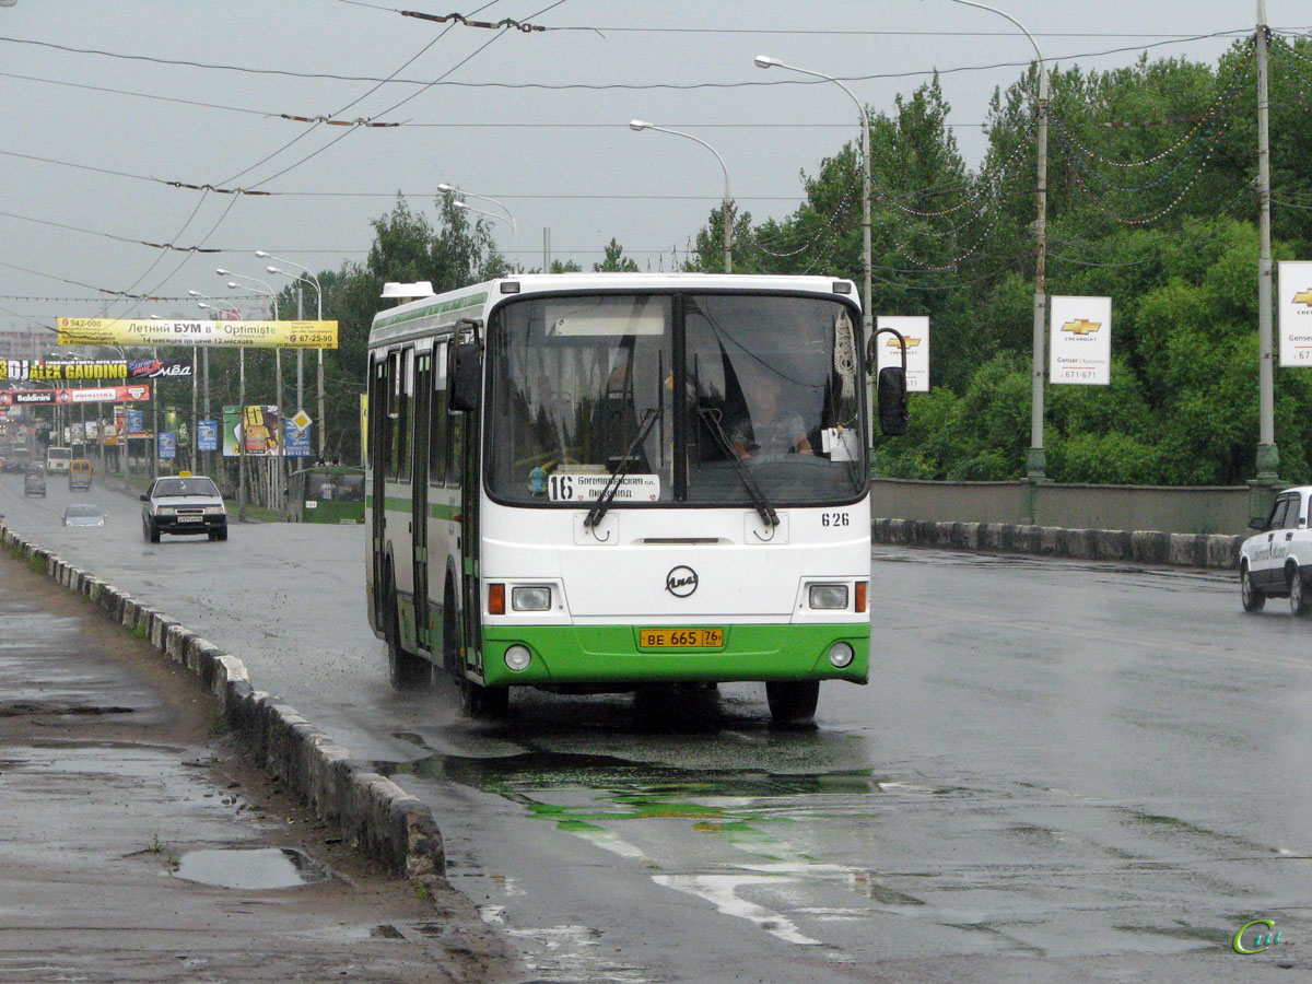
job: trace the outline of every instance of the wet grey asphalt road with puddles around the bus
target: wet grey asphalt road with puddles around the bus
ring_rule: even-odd
[[[79,495],[80,499],[85,497]],[[362,527],[227,543],[0,512],[148,598],[433,806],[453,883],[560,981],[1296,980],[1312,967],[1312,623],[1235,577],[874,551],[869,687],[635,708],[392,694]],[[1271,918],[1282,942],[1231,937]]]

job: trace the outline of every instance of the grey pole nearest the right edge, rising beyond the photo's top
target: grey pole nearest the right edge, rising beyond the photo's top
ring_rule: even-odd
[[[1271,143],[1270,88],[1266,77],[1266,0],[1257,0],[1257,352],[1258,443],[1253,489],[1254,516],[1265,516],[1275,496],[1281,454],[1275,447],[1275,382],[1271,353]]]

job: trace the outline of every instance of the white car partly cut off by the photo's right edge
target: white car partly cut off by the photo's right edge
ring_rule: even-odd
[[[1245,611],[1261,611],[1269,596],[1288,598],[1295,615],[1312,610],[1309,499],[1312,485],[1287,488],[1265,520],[1249,523],[1262,531],[1240,547],[1239,592]]]

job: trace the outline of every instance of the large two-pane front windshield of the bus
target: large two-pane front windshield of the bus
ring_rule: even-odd
[[[488,331],[488,489],[579,505],[609,484],[611,508],[851,501],[867,476],[858,325],[819,297],[509,302]]]

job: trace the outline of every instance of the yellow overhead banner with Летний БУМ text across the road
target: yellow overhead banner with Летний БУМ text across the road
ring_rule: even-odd
[[[60,318],[59,345],[218,345],[252,349],[336,349],[336,321],[171,321]]]

